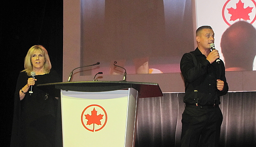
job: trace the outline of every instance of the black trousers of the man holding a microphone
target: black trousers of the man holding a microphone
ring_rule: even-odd
[[[218,106],[187,105],[181,120],[181,147],[218,147],[222,120]]]

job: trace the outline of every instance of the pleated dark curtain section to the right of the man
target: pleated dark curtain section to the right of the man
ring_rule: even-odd
[[[221,143],[225,147],[256,147],[256,92],[228,93],[221,100]]]

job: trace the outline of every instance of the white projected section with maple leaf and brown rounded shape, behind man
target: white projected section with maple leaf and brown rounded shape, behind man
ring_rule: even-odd
[[[196,17],[197,26],[212,26],[226,71],[256,70],[255,0],[196,0]]]

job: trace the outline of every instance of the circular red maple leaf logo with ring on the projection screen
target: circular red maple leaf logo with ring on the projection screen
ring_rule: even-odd
[[[227,0],[222,8],[222,17],[227,25],[235,23],[236,20],[252,24],[256,20],[255,9],[255,0]]]

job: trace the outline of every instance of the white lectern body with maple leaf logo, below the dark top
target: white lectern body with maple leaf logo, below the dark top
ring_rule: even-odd
[[[138,91],[61,90],[64,147],[133,147]]]

